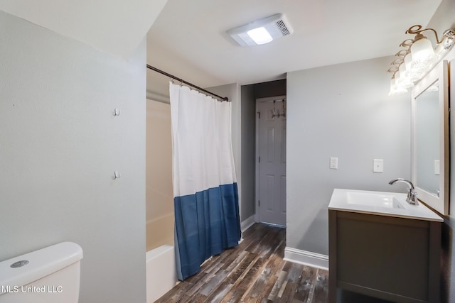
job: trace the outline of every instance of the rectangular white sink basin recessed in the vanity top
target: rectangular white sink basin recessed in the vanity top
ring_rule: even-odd
[[[389,209],[405,209],[392,194],[375,194],[365,192],[346,192],[348,204],[386,207]]]

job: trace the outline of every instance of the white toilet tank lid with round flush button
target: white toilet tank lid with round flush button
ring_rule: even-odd
[[[7,290],[6,286],[27,285],[79,262],[80,259],[82,259],[82,248],[73,242],[63,242],[1,261],[0,285],[5,287],[1,287],[0,294]],[[12,264],[23,260],[28,263],[21,267],[11,268]]]

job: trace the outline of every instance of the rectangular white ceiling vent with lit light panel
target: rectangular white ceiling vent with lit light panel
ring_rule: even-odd
[[[232,28],[227,33],[240,45],[250,46],[269,43],[274,39],[290,35],[292,28],[286,17],[282,13],[277,13],[244,26]]]

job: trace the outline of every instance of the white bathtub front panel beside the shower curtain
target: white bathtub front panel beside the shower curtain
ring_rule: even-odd
[[[159,246],[146,252],[146,296],[153,303],[178,282],[173,246]]]

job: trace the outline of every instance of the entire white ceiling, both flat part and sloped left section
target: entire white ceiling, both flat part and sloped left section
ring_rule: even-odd
[[[115,1],[114,1],[115,2]],[[128,58],[147,33],[147,63],[200,87],[284,79],[287,72],[394,55],[441,0],[0,0],[0,10]],[[242,48],[226,33],[284,13],[294,33]],[[150,27],[151,26],[151,27]],[[387,67],[385,67],[387,70]],[[168,99],[147,71],[147,96]]]

